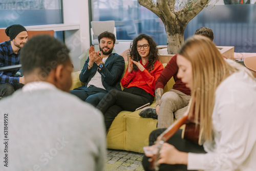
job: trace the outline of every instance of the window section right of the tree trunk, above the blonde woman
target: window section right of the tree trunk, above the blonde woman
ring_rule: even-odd
[[[203,9],[187,24],[184,39],[200,27],[211,28],[217,46],[233,46],[234,52],[256,52],[256,4]]]

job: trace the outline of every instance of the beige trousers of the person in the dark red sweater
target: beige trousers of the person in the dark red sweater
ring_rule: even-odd
[[[190,96],[174,89],[164,93],[160,100],[158,113],[158,128],[167,128],[174,123],[174,118],[180,119],[187,110]]]

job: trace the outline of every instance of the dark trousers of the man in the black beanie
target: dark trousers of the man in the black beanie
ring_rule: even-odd
[[[0,83],[0,97],[7,97],[14,93],[14,91],[22,88],[24,84]]]

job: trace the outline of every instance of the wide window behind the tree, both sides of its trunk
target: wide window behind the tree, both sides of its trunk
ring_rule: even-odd
[[[235,52],[256,52],[255,0],[220,0],[214,9],[203,9],[186,26],[184,39],[200,27],[209,27],[217,46],[234,46]],[[157,45],[166,45],[161,19],[136,0],[91,0],[92,20],[115,20],[118,40],[132,40],[141,33]]]

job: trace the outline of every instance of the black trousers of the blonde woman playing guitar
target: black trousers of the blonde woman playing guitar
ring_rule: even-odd
[[[164,132],[166,129],[157,129],[150,134],[150,145],[153,145],[157,137]],[[174,145],[181,152],[191,152],[191,153],[206,153],[202,145],[195,144],[191,141],[181,138],[182,130],[178,130],[173,137],[171,137],[167,143]],[[150,162],[148,162],[148,157],[144,155],[142,160],[142,165],[145,170],[150,169]],[[187,166],[183,164],[161,164],[159,170],[187,170]]]

